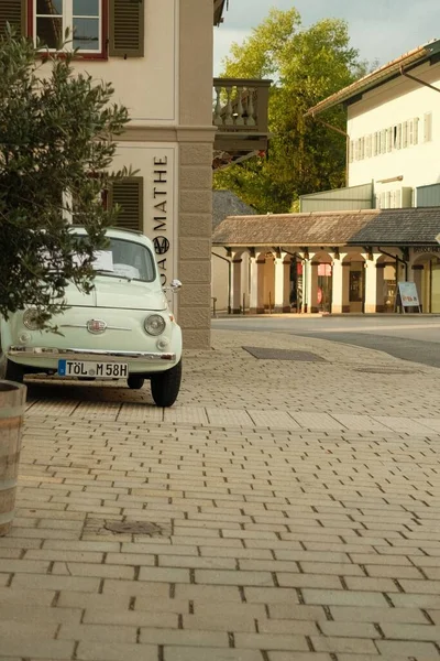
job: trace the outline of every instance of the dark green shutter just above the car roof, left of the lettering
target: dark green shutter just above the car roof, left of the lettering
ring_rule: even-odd
[[[144,226],[144,180],[142,176],[132,176],[120,182],[112,182],[109,186],[108,206],[121,207],[117,226],[121,229],[143,231]]]

